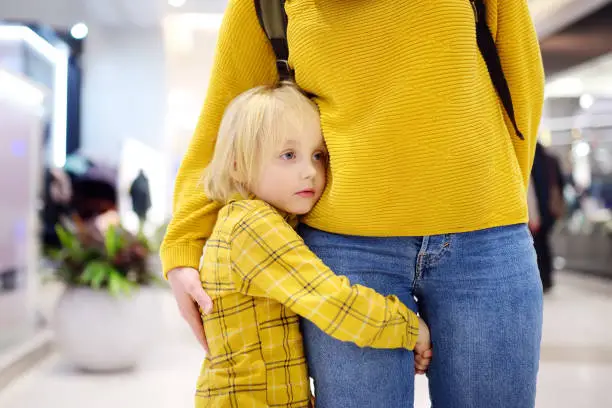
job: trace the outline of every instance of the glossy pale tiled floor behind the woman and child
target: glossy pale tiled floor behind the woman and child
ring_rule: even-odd
[[[202,353],[164,299],[164,330],[141,369],[113,376],[72,371],[57,355],[0,395],[2,408],[192,406]],[[612,407],[612,282],[559,276],[545,300],[538,408]],[[417,380],[416,408],[429,406]],[[520,408],[520,407],[517,407]]]

